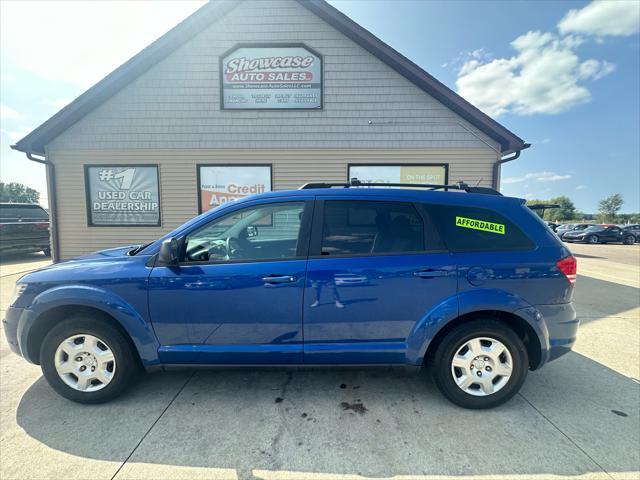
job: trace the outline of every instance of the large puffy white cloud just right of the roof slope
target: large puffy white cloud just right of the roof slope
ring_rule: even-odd
[[[511,46],[516,55],[483,61],[467,60],[460,71],[458,93],[492,116],[561,113],[591,98],[583,82],[613,71],[609,62],[581,60],[575,36],[558,37],[530,31]]]

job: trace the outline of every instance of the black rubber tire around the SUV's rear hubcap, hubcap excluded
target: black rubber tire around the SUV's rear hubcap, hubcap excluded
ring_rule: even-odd
[[[477,337],[490,337],[502,342],[513,361],[511,377],[506,385],[486,396],[474,396],[463,391],[456,384],[451,368],[456,352]],[[455,327],[437,346],[432,362],[433,379],[443,395],[456,405],[470,409],[493,408],[507,402],[518,393],[529,370],[529,356],[520,337],[507,325],[493,319],[472,320]]]

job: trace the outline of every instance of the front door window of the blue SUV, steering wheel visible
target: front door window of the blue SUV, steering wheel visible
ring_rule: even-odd
[[[296,258],[304,202],[236,210],[188,234],[184,262],[238,262]]]

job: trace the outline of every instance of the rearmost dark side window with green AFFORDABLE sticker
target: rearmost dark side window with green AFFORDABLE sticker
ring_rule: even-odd
[[[452,252],[531,250],[533,241],[494,210],[456,205],[429,205],[434,223]]]

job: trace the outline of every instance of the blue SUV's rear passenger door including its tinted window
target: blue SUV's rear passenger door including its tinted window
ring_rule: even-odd
[[[455,270],[414,204],[319,200],[303,308],[305,363],[406,362],[416,324],[455,296]]]

